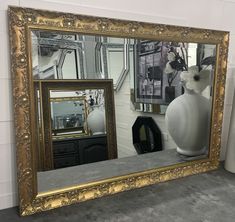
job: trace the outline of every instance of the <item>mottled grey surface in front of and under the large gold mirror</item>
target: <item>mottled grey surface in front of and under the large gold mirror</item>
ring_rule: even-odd
[[[234,222],[235,174],[220,169],[24,218],[11,208],[0,221]]]

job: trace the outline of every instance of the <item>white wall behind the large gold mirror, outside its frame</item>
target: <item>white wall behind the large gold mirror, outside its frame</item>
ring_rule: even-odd
[[[15,146],[6,9],[33,7],[111,18],[231,31],[222,158],[226,148],[235,77],[235,0],[0,0],[0,209],[17,205]]]

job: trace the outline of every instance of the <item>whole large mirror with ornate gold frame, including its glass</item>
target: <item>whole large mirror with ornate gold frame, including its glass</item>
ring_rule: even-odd
[[[21,215],[214,170],[229,33],[9,8]]]

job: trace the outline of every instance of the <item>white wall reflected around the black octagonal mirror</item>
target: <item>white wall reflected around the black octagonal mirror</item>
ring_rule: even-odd
[[[163,149],[175,149],[176,144],[166,129],[165,116],[134,111],[130,101],[129,74],[118,92],[115,92],[115,115],[117,128],[118,156],[134,156],[137,152],[132,141],[132,126],[138,116],[150,116],[157,123],[162,133]]]

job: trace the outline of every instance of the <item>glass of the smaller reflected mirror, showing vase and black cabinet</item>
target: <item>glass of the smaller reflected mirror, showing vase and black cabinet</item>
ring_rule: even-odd
[[[54,169],[108,160],[103,95],[50,90]]]

